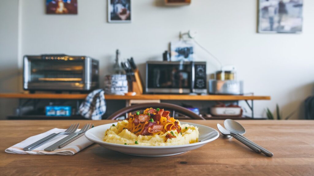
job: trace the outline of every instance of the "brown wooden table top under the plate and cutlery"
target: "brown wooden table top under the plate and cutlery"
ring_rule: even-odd
[[[214,129],[217,123],[223,124],[223,120],[186,121]],[[98,144],[73,156],[4,152],[27,137],[54,127],[67,128],[73,122],[0,121],[0,175],[314,175],[314,120],[239,121],[246,128],[245,136],[273,152],[273,157],[257,154],[223,136],[196,150],[170,157],[129,156]],[[114,120],[92,122],[97,126]]]

